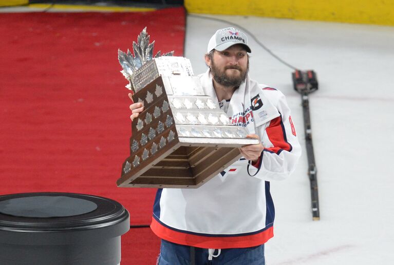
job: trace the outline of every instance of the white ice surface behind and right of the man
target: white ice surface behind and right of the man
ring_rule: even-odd
[[[301,95],[289,67],[250,38],[250,75],[285,93],[304,152],[295,173],[271,182],[275,237],[268,265],[394,264],[394,27],[243,16],[225,19],[272,52],[317,73],[310,95],[320,221],[312,221]],[[208,40],[231,25],[189,16],[185,57],[195,74]]]

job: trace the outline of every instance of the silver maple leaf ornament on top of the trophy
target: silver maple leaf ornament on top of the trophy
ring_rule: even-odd
[[[154,58],[158,58],[160,56],[174,55],[174,51],[164,53],[163,55],[161,55],[161,52],[158,51],[156,55],[153,56],[154,46],[155,46],[155,41],[149,43],[149,35],[147,34],[145,27],[138,35],[137,43],[133,42],[134,55],[132,54],[132,52],[130,52],[129,49],[127,49],[127,53],[118,49],[119,63],[123,68],[123,70],[120,72],[129,81],[129,84],[126,86],[126,88],[132,90],[133,94],[136,91],[134,90],[132,79],[133,79],[133,74],[138,69],[140,69],[149,60],[152,60]]]

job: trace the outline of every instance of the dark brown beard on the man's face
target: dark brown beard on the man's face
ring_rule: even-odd
[[[216,67],[213,58],[211,58],[211,62],[211,73],[213,79],[215,79],[218,84],[224,87],[234,87],[237,89],[242,84],[242,82],[245,81],[249,72],[249,60],[246,70],[243,70],[239,65],[232,65],[224,67],[223,71],[221,71],[218,67]],[[226,73],[227,69],[236,69],[240,72],[240,74],[228,75]]]

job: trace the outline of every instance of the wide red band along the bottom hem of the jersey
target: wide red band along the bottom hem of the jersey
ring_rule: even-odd
[[[158,237],[164,240],[204,249],[251,248],[264,244],[274,236],[273,227],[248,236],[215,237],[192,235],[166,228],[155,218],[152,218],[151,229]]]

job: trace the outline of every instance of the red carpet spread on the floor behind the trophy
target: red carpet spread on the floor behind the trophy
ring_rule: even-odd
[[[149,224],[156,190],[117,188],[130,103],[118,48],[147,26],[155,50],[183,55],[183,8],[146,13],[0,14],[0,194],[73,192],[115,199]],[[122,237],[122,264],[155,264],[149,229]]]

